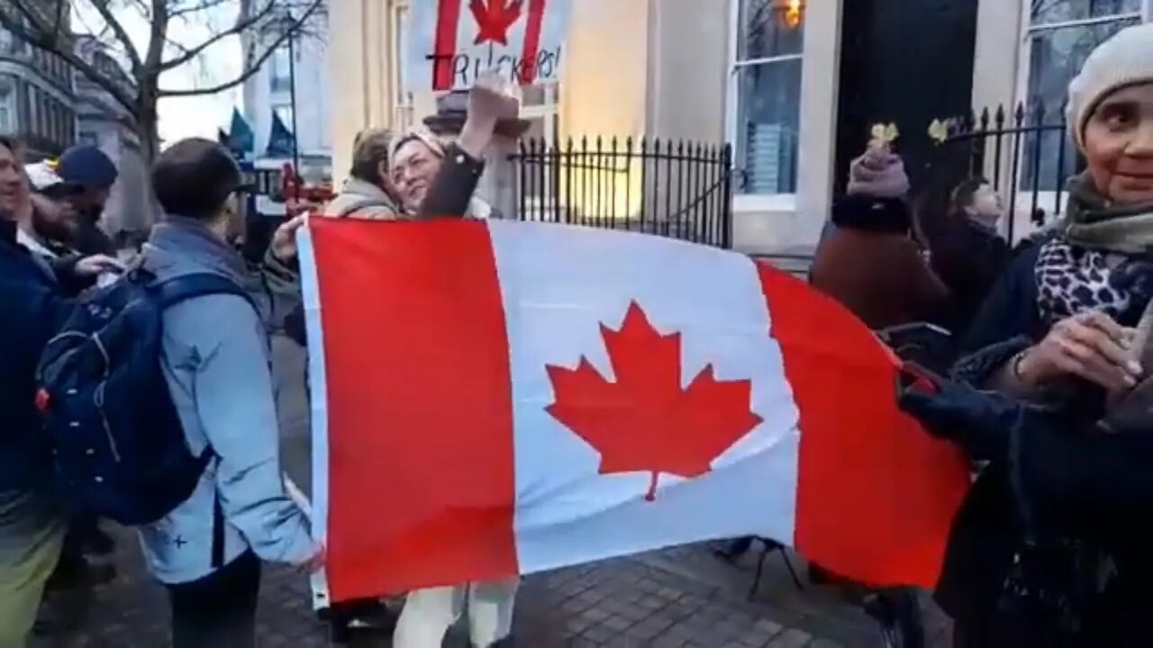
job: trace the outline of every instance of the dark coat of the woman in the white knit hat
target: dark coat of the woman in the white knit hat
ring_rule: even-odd
[[[1039,642],[1040,634],[1020,634],[1019,615],[1000,606],[1028,529],[1039,544],[1085,545],[1116,565],[1105,593],[1077,604],[1084,627],[1065,640],[1072,636],[1075,646],[1147,645],[1141,619],[1153,612],[1153,555],[1139,520],[1153,515],[1153,435],[1097,430],[1103,394],[1087,384],[1070,385],[1050,409],[1020,409],[1016,400],[967,387],[987,383],[1047,332],[1037,307],[1038,251],[1026,249],[1012,262],[971,326],[955,369],[966,386],[937,399],[944,402],[939,408],[959,412],[957,419],[942,424],[924,408],[913,409],[927,427],[969,447],[974,459],[989,461],[954,523],[936,596],[963,628],[977,631],[974,646],[1054,645]],[[1000,421],[974,423],[974,412],[988,412],[989,399],[1000,399]],[[1007,408],[1013,409],[1004,414]],[[1060,574],[1076,555],[1062,549],[1047,559],[1041,571]],[[1032,627],[1038,633],[1055,630],[1052,624]]]

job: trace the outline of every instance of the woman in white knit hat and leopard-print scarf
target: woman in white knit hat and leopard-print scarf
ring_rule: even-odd
[[[1090,54],[1068,116],[1067,218],[993,288],[957,382],[902,394],[987,462],[936,589],[962,648],[1150,645],[1153,24]]]

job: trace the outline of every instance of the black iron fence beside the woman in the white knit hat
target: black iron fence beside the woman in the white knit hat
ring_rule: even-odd
[[[984,176],[1008,210],[1027,213],[1041,226],[1064,213],[1065,181],[1084,161],[1069,137],[1064,107],[1018,104],[947,121],[930,167],[934,187],[927,191],[940,189],[941,202],[965,179]],[[1008,221],[1010,240],[1017,234],[1016,220]]]

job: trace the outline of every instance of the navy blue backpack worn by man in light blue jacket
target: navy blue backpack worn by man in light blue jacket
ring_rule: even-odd
[[[135,269],[85,293],[48,341],[37,407],[61,495],[75,512],[140,526],[191,496],[214,454],[208,449],[197,457],[188,447],[161,370],[161,316],[184,300],[220,293],[250,300],[218,274],[158,281]]]

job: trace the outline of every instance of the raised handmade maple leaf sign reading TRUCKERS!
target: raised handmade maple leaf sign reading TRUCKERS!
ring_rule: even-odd
[[[422,0],[410,8],[409,90],[469,88],[489,69],[533,85],[559,75],[572,0]]]

